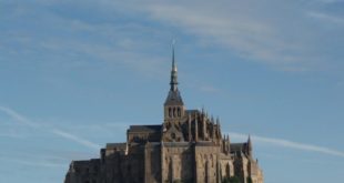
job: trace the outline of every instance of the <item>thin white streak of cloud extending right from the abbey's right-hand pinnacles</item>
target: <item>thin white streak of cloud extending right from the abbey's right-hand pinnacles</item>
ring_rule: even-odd
[[[242,134],[242,133],[230,132],[230,136],[233,139],[237,139],[237,140],[247,140],[247,134]],[[265,138],[265,136],[259,136],[259,135],[251,135],[251,138],[252,138],[252,141],[254,141],[255,143],[266,143],[266,144],[275,145],[275,146],[302,150],[302,151],[308,151],[308,152],[316,152],[316,153],[323,153],[327,155],[344,157],[344,152],[333,150],[330,148],[325,148],[325,146],[318,146],[318,145],[313,145],[313,144],[293,142],[293,141],[284,140],[284,139]]]

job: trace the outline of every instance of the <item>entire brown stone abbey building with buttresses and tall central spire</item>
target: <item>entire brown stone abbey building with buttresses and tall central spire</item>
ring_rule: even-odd
[[[156,125],[131,125],[127,142],[108,143],[100,159],[72,161],[64,183],[263,183],[252,142],[231,143],[219,120],[186,110],[172,53],[171,89]]]

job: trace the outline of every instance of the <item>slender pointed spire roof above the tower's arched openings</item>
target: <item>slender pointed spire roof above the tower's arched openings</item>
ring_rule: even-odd
[[[183,105],[182,96],[178,90],[178,68],[174,60],[174,43],[172,44],[172,70],[171,70],[171,81],[170,91],[165,101],[165,105]]]

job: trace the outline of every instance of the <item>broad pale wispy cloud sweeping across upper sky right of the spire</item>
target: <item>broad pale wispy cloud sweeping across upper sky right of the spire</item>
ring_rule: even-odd
[[[122,2],[117,7],[144,12],[150,19],[179,28],[203,42],[215,43],[242,58],[284,71],[323,70],[328,61],[333,62],[328,59],[331,55],[320,53],[333,45],[317,42],[318,37],[330,38],[324,30],[314,29],[305,16],[314,7],[322,8],[323,2],[178,2],[151,0],[144,4]],[[313,16],[342,22],[340,18]]]

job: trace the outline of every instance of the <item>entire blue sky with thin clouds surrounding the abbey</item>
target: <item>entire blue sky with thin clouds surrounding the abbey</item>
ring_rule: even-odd
[[[61,183],[186,109],[249,134],[265,183],[344,180],[343,0],[0,0],[0,182]]]

